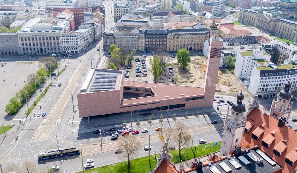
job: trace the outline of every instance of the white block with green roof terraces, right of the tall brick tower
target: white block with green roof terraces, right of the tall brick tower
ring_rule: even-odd
[[[252,70],[255,66],[263,66],[265,62],[270,61],[271,55],[268,55],[262,51],[256,50],[244,50],[237,51],[234,75],[244,81],[244,84],[248,84],[252,75]]]

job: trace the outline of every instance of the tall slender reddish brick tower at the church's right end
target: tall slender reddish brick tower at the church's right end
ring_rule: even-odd
[[[223,40],[219,37],[210,37],[207,68],[204,81],[205,106],[213,105],[214,92],[217,86],[219,64],[221,59]],[[207,97],[206,97],[207,96]]]

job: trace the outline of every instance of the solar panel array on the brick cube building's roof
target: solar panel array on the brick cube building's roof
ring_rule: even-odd
[[[97,72],[90,91],[99,92],[114,90],[117,77],[118,73]]]

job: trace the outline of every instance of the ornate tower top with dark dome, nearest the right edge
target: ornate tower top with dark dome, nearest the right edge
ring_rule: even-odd
[[[285,83],[285,88],[277,94],[277,100],[274,98],[272,101],[269,115],[277,120],[282,116],[284,116],[286,120],[290,117],[293,106],[293,101],[291,101],[292,94],[290,92],[291,86],[292,84],[290,83],[290,80],[287,81]]]

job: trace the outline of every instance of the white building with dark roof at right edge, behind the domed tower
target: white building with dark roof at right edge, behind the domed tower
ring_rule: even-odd
[[[290,80],[292,94],[297,90],[297,61],[285,60],[282,65],[265,62],[254,67],[252,78],[249,81],[249,92],[259,97],[276,97],[284,87],[284,83]]]

